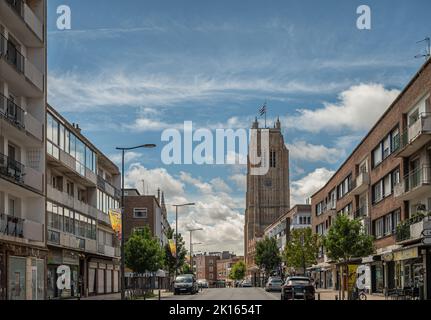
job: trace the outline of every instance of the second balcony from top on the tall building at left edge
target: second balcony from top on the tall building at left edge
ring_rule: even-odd
[[[0,0],[1,3],[2,0]],[[18,96],[41,98],[44,75],[19,50],[0,34],[0,74]]]

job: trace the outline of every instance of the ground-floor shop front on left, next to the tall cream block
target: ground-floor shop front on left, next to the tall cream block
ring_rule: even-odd
[[[83,255],[75,251],[61,249],[49,251],[48,299],[71,299],[82,295],[81,288],[85,276],[81,268],[83,259]]]

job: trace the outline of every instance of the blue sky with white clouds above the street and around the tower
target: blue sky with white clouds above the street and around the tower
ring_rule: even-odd
[[[371,9],[359,30],[357,8]],[[57,7],[71,29],[57,28]],[[423,64],[427,0],[48,1],[48,102],[120,164],[126,184],[182,208],[197,251],[243,253],[245,166],[165,165],[161,134],[247,129],[266,102],[290,150],[292,204],[322,187]],[[263,124],[263,120],[261,122]],[[147,192],[147,190],[145,190]],[[188,237],[186,237],[188,246]]]

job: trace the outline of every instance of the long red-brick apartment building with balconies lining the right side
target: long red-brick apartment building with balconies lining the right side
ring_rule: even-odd
[[[337,215],[362,222],[375,237],[362,258],[373,293],[420,287],[430,298],[431,60],[428,60],[334,176],[312,196],[313,230],[327,233]],[[336,121],[336,119],[334,119]],[[425,231],[426,232],[426,231]],[[425,240],[427,241],[427,240]],[[428,275],[428,276],[427,276]],[[323,248],[314,276],[338,287],[339,273]]]

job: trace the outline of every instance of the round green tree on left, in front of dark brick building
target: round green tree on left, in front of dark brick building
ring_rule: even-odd
[[[126,266],[135,273],[156,272],[163,267],[163,249],[148,227],[132,234],[124,255]]]

